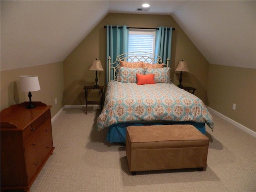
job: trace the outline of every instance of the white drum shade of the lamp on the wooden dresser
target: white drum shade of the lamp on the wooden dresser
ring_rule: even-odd
[[[22,75],[20,76],[20,91],[38,91],[40,90],[40,85],[38,81],[38,76],[35,75]]]

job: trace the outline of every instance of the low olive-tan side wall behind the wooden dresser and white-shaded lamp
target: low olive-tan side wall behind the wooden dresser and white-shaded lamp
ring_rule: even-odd
[[[37,75],[40,88],[32,92],[32,102],[41,101],[52,105],[52,117],[62,108],[62,96],[64,90],[63,63],[52,63],[41,66],[1,71],[1,110],[10,105],[29,101],[27,92],[20,92],[19,76]],[[55,98],[57,104],[55,105]]]

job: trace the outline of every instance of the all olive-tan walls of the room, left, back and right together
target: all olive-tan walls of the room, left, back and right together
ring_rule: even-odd
[[[256,131],[256,70],[209,64],[172,17],[164,15],[108,14],[63,63],[1,71],[1,110],[28,101],[27,93],[18,91],[19,76],[25,74],[38,75],[41,90],[32,92],[32,101],[52,105],[52,117],[64,105],[84,104],[83,86],[94,85],[95,80],[95,72],[89,71],[92,60],[100,59],[106,71],[107,24],[176,28],[172,36],[172,82],[178,84],[179,74],[174,70],[179,60],[185,60],[189,72],[182,75],[183,85],[195,87],[196,96],[210,108]],[[105,71],[98,72],[100,85],[105,85]],[[97,91],[89,93],[90,100],[98,97]],[[232,110],[233,103],[236,110]]]

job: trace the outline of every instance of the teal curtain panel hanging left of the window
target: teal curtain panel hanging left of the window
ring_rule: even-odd
[[[107,67],[106,67],[106,83],[108,84],[108,57],[111,57],[111,63],[116,60],[116,57],[120,54],[128,52],[128,38],[129,29],[127,26],[115,26],[107,25]],[[113,79],[114,72],[110,72],[111,79]]]

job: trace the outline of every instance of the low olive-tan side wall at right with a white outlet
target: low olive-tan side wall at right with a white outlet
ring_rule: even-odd
[[[256,70],[211,64],[207,102],[210,108],[256,131]]]

